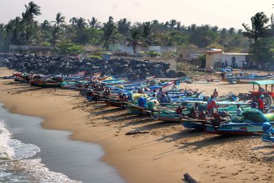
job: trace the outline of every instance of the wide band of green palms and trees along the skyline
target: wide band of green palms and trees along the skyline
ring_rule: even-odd
[[[115,21],[110,16],[108,22],[100,23],[95,16],[90,19],[71,17],[66,19],[57,12],[54,20],[36,21],[40,16],[40,6],[33,1],[25,5],[25,12],[7,24],[0,25],[0,51],[8,45],[51,45],[55,47],[63,40],[80,45],[101,45],[109,49],[112,44],[136,47],[221,47],[223,49],[247,49],[249,45],[263,38],[273,36],[273,25],[263,12],[251,17],[251,26],[243,23],[242,29],[220,28],[208,24],[184,25],[171,19],[160,22],[152,20],[132,23],[128,19]],[[273,17],[271,18],[273,21]],[[69,22],[69,23],[68,23]],[[258,43],[259,44],[259,43]],[[252,49],[255,50],[255,49]]]

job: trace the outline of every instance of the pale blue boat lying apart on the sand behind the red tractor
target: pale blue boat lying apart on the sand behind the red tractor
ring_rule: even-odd
[[[274,80],[274,75],[249,75],[249,76],[236,76],[236,77],[225,77],[225,82],[236,82],[238,84],[248,84],[253,81],[261,80]]]

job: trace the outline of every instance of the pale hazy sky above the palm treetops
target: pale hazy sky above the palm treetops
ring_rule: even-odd
[[[24,5],[30,0],[0,0],[0,23],[21,16]],[[61,12],[69,22],[71,17],[108,21],[127,18],[132,23],[160,22],[175,19],[183,25],[210,24],[220,28],[242,29],[242,23],[251,25],[250,18],[257,12],[264,12],[269,18],[274,12],[274,0],[33,0],[41,7],[39,22],[53,21]]]

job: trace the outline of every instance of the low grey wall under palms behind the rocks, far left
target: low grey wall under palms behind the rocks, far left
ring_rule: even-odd
[[[21,53],[21,54],[35,53],[36,55],[51,56],[51,47],[45,47],[45,46],[10,45],[9,51],[12,53]]]

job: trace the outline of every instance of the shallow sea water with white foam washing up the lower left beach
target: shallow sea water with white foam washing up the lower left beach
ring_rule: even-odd
[[[44,130],[42,119],[11,114],[0,104],[0,182],[125,182],[101,162],[103,149]]]

